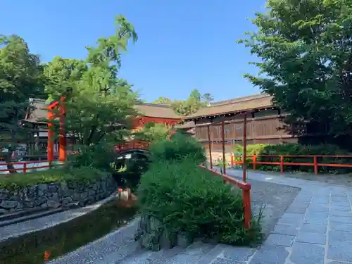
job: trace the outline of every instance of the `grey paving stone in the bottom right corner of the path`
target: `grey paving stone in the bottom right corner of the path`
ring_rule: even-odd
[[[352,242],[351,241],[330,241],[327,248],[327,258],[331,260],[352,262]]]

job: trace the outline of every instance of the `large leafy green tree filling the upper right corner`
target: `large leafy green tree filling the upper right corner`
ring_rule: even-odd
[[[287,113],[289,120],[329,124],[352,134],[352,1],[268,0],[241,39],[260,58],[263,76],[246,77]]]

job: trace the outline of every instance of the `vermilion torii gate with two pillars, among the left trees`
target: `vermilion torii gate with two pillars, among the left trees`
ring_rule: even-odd
[[[54,109],[58,109],[58,118],[59,118],[59,150],[58,150],[58,161],[66,161],[66,133],[65,133],[65,96],[61,96],[60,101],[54,101],[48,106],[48,162],[51,163],[54,161],[54,124],[51,120],[54,120],[57,115],[53,113]]]

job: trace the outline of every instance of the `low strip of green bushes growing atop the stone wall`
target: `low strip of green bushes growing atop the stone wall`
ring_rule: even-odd
[[[30,172],[26,175],[17,173],[10,177],[0,177],[1,189],[20,189],[37,184],[52,182],[77,182],[79,184],[89,184],[103,177],[111,177],[106,172],[101,172],[94,168],[52,168],[49,170]]]

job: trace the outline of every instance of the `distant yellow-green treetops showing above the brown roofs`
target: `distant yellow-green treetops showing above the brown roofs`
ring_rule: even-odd
[[[211,94],[206,93],[202,95],[198,89],[193,89],[186,100],[172,101],[161,96],[152,103],[170,105],[177,115],[191,115],[199,111],[200,108],[208,106],[208,103],[213,100],[214,98]]]

